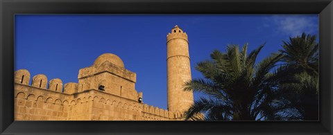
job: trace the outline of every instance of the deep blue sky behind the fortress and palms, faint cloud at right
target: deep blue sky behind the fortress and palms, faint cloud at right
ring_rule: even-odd
[[[262,60],[289,36],[318,36],[318,15],[15,15],[15,71],[78,82],[79,69],[114,53],[137,73],[144,102],[167,109],[166,38],[175,25],[189,36],[192,78],[202,77],[196,63],[228,44],[248,43],[250,52],[266,43]]]

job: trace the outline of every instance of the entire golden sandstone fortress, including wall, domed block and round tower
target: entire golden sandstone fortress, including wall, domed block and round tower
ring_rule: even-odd
[[[193,93],[181,89],[191,71],[187,34],[178,26],[167,35],[167,65],[169,110],[139,102],[143,93],[135,90],[136,73],[111,53],[80,69],[78,83],[48,81],[42,74],[31,80],[29,71],[20,69],[15,71],[15,120],[183,120]]]

